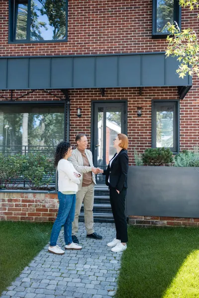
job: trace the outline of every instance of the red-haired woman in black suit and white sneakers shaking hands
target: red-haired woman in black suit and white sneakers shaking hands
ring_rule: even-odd
[[[110,204],[116,228],[116,238],[107,243],[107,246],[112,247],[111,251],[119,252],[127,248],[126,242],[128,241],[124,213],[128,173],[127,136],[118,134],[113,141],[113,146],[116,153],[110,160],[107,169],[100,170],[100,172],[106,175],[105,182],[109,187]]]

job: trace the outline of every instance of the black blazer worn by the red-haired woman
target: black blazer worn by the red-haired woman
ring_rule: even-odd
[[[114,156],[112,158],[114,158]],[[122,191],[123,187],[127,188],[127,173],[128,155],[126,150],[122,149],[112,161],[111,166],[109,163],[107,169],[103,171],[103,175],[106,175],[106,185],[110,185],[111,187]],[[108,177],[110,178],[110,183],[108,183]]]

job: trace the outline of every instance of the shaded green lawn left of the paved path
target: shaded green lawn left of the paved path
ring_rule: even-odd
[[[0,293],[48,243],[52,223],[0,222]]]

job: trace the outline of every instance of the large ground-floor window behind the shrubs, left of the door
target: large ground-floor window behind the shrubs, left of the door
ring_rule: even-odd
[[[58,145],[64,140],[64,104],[0,104],[0,151]]]

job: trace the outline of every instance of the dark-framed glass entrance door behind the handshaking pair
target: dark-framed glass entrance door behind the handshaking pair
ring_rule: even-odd
[[[94,103],[94,164],[105,169],[116,150],[113,139],[125,134],[125,103]]]

